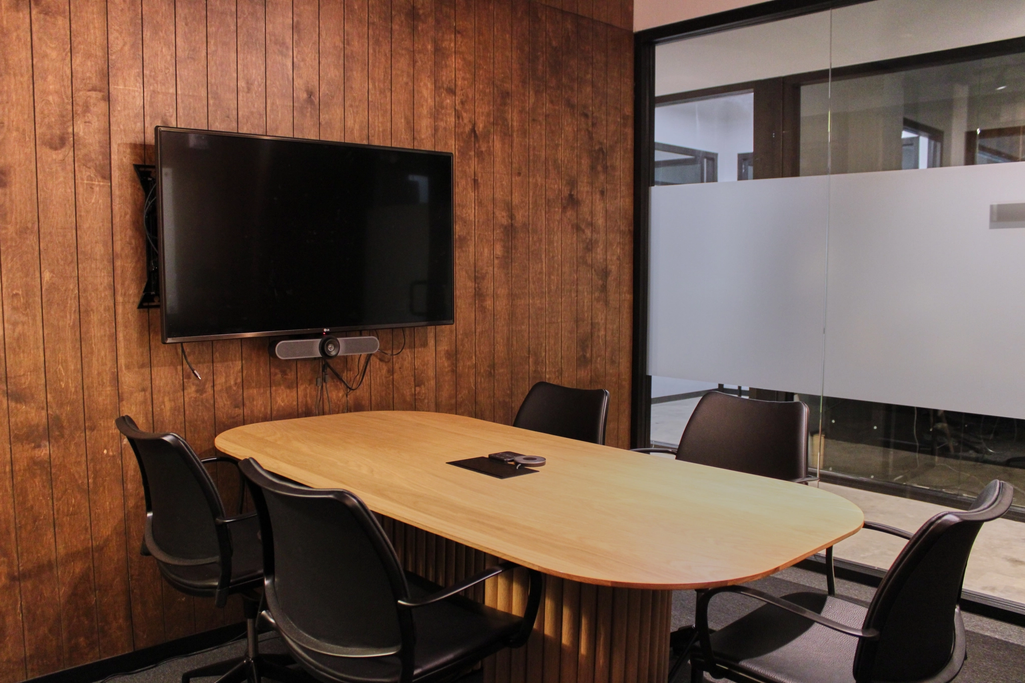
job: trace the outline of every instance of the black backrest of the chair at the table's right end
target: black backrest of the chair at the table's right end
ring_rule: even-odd
[[[940,672],[954,644],[954,610],[965,567],[984,522],[1008,511],[1011,484],[994,479],[967,511],[941,512],[907,542],[868,606],[854,658],[857,681],[920,681]]]

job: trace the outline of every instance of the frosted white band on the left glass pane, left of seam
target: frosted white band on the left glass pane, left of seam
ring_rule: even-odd
[[[820,392],[828,182],[652,188],[650,375]]]

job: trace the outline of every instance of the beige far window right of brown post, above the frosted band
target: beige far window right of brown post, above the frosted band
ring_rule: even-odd
[[[878,70],[801,86],[801,175],[1025,159],[1025,54]]]

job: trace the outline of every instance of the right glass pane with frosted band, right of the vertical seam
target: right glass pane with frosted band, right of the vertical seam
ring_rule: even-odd
[[[828,101],[832,122],[829,169],[822,140],[803,139],[801,163],[832,175],[823,465],[960,497],[999,477],[1020,510],[1025,7],[870,2],[836,10],[833,39],[852,51],[921,10],[958,26],[802,87],[802,121]]]

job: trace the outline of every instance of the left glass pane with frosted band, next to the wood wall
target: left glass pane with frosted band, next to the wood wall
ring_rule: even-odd
[[[829,187],[787,177],[797,138],[778,123],[799,115],[788,74],[825,70],[828,85],[828,12],[656,48],[655,443],[675,445],[710,390],[818,411]],[[814,126],[827,135],[827,120]]]

